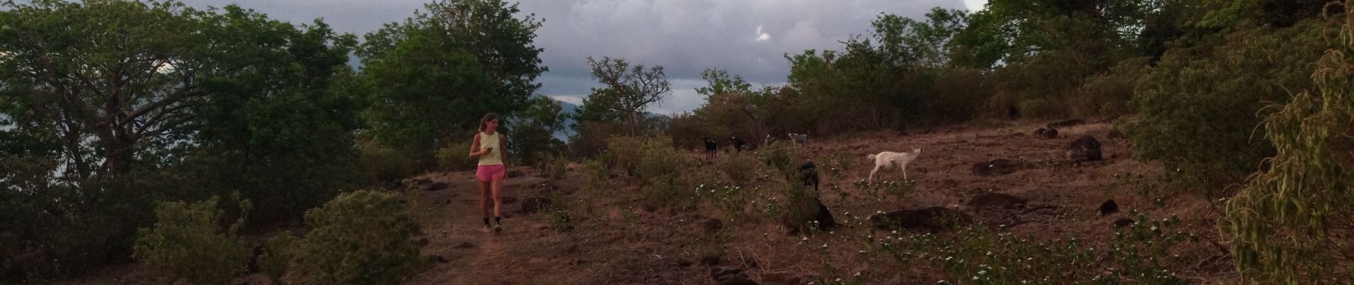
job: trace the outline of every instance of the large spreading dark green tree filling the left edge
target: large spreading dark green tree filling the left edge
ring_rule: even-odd
[[[326,200],[357,126],[330,80],[353,42],[234,5],[4,1],[0,158],[23,172],[0,186],[23,190],[0,215],[0,271],[43,277],[126,254],[160,197]]]

